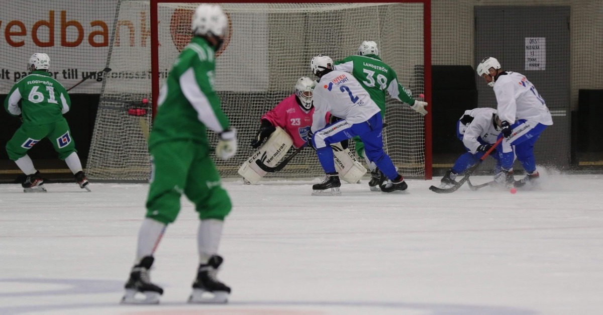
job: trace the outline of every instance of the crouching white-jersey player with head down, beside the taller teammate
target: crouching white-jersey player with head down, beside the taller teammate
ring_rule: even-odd
[[[496,124],[496,109],[490,107],[466,110],[456,123],[456,137],[463,141],[467,152],[461,154],[454,166],[446,171],[441,179],[440,188],[456,185],[458,174],[478,163],[484,153],[496,143],[500,136],[500,127]],[[496,150],[496,149],[495,149]],[[500,171],[500,161],[497,151],[492,151],[490,156],[496,159],[496,171]]]

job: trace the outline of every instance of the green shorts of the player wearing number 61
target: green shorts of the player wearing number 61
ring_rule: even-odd
[[[14,133],[6,144],[8,158],[17,161],[27,154],[30,148],[33,148],[42,139],[48,138],[54,150],[58,153],[58,158],[65,160],[69,154],[77,152],[75,142],[71,137],[71,131],[65,118],[55,123],[43,125],[30,125],[24,123]]]

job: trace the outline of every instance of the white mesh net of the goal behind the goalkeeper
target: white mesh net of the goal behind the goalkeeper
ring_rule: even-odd
[[[91,178],[148,179],[150,161],[144,136],[148,130],[142,129],[152,126],[152,111],[132,115],[124,110],[124,101],[136,103],[147,98],[153,104],[157,100],[172,63],[191,40],[191,17],[199,4],[119,3],[109,52],[113,71],[106,75],[87,164]],[[429,65],[429,40],[425,37],[429,8],[423,2],[219,5],[229,17],[229,30],[217,54],[215,88],[224,112],[238,130],[239,144],[235,158],[215,159],[223,177],[237,177],[239,166],[253,154],[249,143],[261,116],[294,92],[299,77],[315,78],[309,64],[317,54],[341,60],[356,54],[362,41],[374,40],[380,57],[397,72],[402,86],[415,98],[429,91],[424,68]],[[140,21],[143,27],[137,32],[121,21]],[[133,40],[144,45],[131,45]],[[405,176],[425,177],[426,168],[431,176],[430,157],[425,154],[431,139],[426,141],[423,116],[390,97],[387,102],[384,140],[388,154]],[[140,118],[147,124],[141,125]],[[209,135],[216,144],[217,136]],[[303,150],[282,171],[269,176],[322,174],[315,151]]]

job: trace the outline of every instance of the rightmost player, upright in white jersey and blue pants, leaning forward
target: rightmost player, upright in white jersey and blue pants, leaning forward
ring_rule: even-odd
[[[500,163],[502,170],[495,177],[506,186],[514,185],[513,179],[513,147],[517,160],[522,164],[527,175],[520,182],[535,183],[538,179],[534,144],[540,133],[553,124],[553,119],[546,102],[525,75],[518,72],[504,71],[498,60],[486,57],[479,63],[478,75],[484,78],[488,86],[494,88],[497,110],[500,118],[502,150]]]

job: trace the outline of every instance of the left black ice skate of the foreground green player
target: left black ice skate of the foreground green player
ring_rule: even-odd
[[[152,284],[148,275],[153,261],[153,256],[146,256],[140,264],[132,267],[130,279],[124,286],[122,304],[159,304],[159,296],[163,294],[163,289]]]

